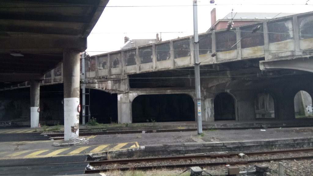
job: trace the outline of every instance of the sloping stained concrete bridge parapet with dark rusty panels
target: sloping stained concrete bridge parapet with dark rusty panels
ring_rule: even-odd
[[[252,33],[257,25],[262,28]],[[199,61],[201,65],[208,65],[252,58],[277,60],[313,55],[312,28],[313,12],[309,12],[258,21],[229,31],[209,31],[199,34]],[[95,55],[91,57],[96,63],[91,71],[94,73],[89,75],[126,78],[125,75],[130,74],[192,67],[192,43],[193,36],[187,36]],[[214,52],[216,57],[211,56]]]

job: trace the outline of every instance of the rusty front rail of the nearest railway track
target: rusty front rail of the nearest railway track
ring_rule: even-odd
[[[248,164],[248,163],[260,163],[269,161],[281,161],[281,160],[303,160],[303,159],[313,159],[313,156],[302,156],[302,157],[290,157],[290,158],[275,158],[275,159],[261,159],[261,160],[246,160],[246,161],[234,161],[234,162],[217,162],[217,163],[192,163],[192,164],[173,164],[173,165],[160,165],[160,166],[142,166],[142,167],[127,167],[127,168],[110,168],[110,169],[95,169],[95,170],[85,170],[85,174],[90,173],[101,173],[109,170],[148,170],[156,168],[188,168],[193,166],[199,167],[210,167],[210,166],[221,166],[221,165],[237,165],[237,164]]]

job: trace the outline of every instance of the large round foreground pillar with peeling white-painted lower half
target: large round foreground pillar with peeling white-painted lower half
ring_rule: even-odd
[[[64,141],[79,137],[80,54],[63,52]]]

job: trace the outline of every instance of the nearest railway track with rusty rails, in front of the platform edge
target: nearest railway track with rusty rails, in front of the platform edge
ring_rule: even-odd
[[[287,153],[307,153],[313,152],[313,148],[307,149],[295,149],[295,150],[281,150],[281,151],[267,151],[267,152],[251,152],[244,153],[247,156],[260,156],[260,155],[276,155],[276,154],[287,154]],[[275,160],[276,162],[281,160],[303,160],[303,159],[313,159],[313,154],[307,156],[298,156],[298,157],[286,157],[286,158],[271,158],[271,159],[253,159],[253,160],[241,160],[241,161],[226,161],[226,162],[205,162],[205,163],[184,163],[184,164],[166,164],[160,165],[157,162],[160,161],[184,161],[184,160],[196,160],[203,158],[232,158],[238,156],[239,153],[223,153],[223,154],[211,154],[211,155],[190,155],[190,156],[176,156],[176,157],[158,157],[158,158],[138,158],[138,159],[120,159],[120,160],[105,160],[105,161],[89,161],[89,162],[74,162],[74,163],[51,163],[51,164],[39,164],[39,165],[56,165],[56,164],[81,164],[85,163],[86,166],[89,164],[93,166],[95,170],[85,170],[85,173],[101,173],[109,170],[118,169],[121,171],[125,170],[147,170],[147,169],[156,169],[156,168],[188,168],[193,166],[199,167],[209,167],[209,166],[221,166],[221,165],[242,165],[249,163],[260,163],[260,162],[270,162]],[[131,167],[123,167],[123,164],[129,163],[145,163],[145,162],[155,162],[155,165],[150,166],[131,166]],[[115,164],[121,165],[122,167],[118,168],[105,168],[107,165]],[[154,164],[154,163],[153,163]],[[33,166],[38,164],[29,164],[23,166]],[[17,165],[5,166],[5,167],[16,167]],[[0,166],[0,168],[3,166]]]

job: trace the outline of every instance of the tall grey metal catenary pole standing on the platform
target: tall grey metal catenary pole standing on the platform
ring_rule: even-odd
[[[200,90],[200,64],[199,64],[199,39],[198,39],[198,10],[197,0],[193,0],[193,39],[195,53],[195,81],[196,81],[196,102],[197,102],[197,121],[198,134],[202,133],[202,117],[201,117],[201,90]]]

